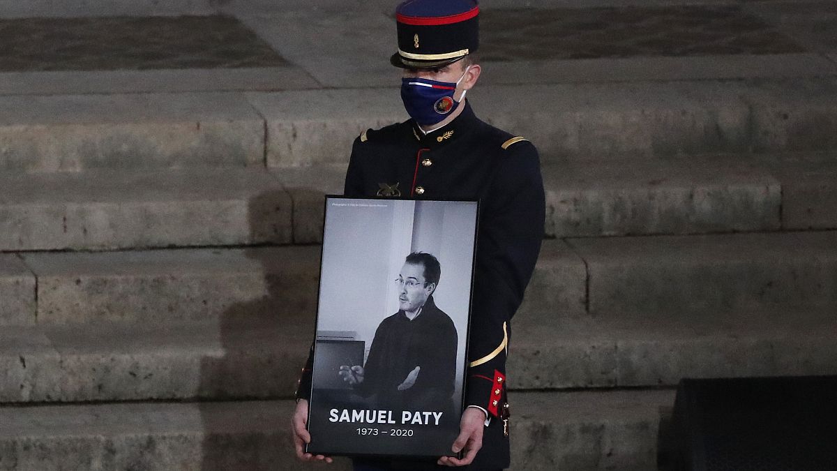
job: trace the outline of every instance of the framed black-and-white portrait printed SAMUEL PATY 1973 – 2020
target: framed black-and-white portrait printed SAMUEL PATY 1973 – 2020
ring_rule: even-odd
[[[308,453],[456,456],[478,213],[326,197]]]

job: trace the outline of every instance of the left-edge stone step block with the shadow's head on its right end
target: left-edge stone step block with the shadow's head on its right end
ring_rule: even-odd
[[[5,175],[0,250],[287,244],[292,212],[264,168]]]

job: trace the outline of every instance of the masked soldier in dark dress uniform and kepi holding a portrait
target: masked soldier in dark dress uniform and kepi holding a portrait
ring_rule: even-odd
[[[544,194],[535,147],[475,116],[465,94],[480,78],[479,8],[474,0],[408,0],[396,10],[401,96],[410,119],[363,132],[352,146],[344,193],[352,197],[480,199],[471,311],[466,408],[451,449],[429,468],[509,466],[506,354],[543,238]],[[300,378],[293,418],[303,453],[311,357]],[[404,460],[354,461],[356,470],[424,469]]]

